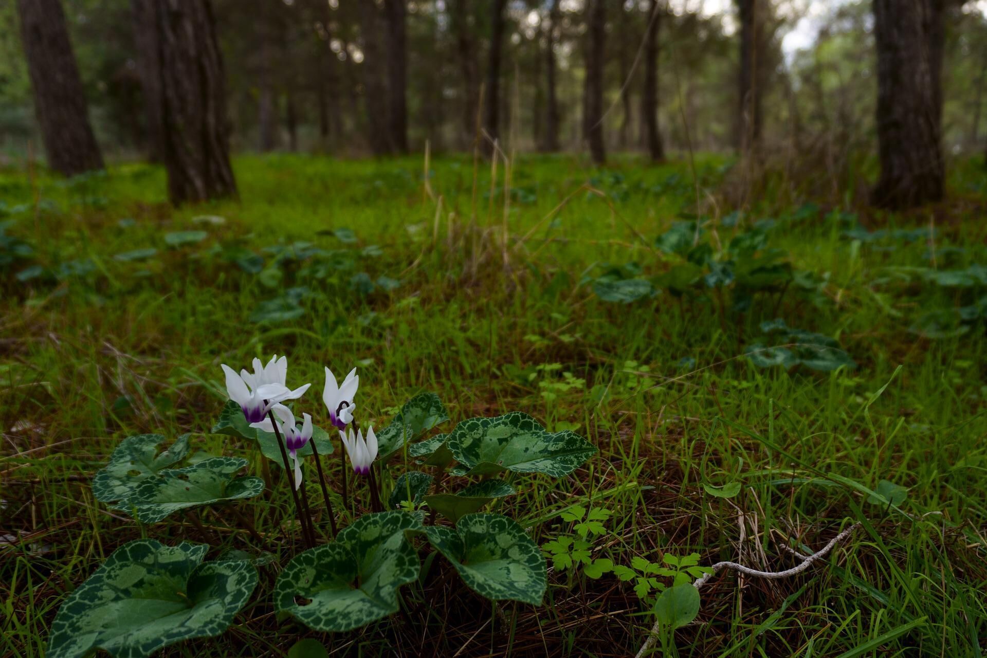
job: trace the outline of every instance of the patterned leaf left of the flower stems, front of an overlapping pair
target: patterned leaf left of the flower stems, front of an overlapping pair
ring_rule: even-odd
[[[157,523],[189,507],[251,498],[264,491],[264,480],[252,475],[232,476],[245,466],[245,459],[213,457],[185,469],[162,471],[157,477],[141,482],[114,509],[123,510],[143,523]]]

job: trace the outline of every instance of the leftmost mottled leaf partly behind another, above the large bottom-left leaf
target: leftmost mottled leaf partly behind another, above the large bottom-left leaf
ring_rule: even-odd
[[[189,454],[189,435],[183,434],[168,450],[155,456],[158,444],[164,440],[160,434],[137,434],[120,441],[110,456],[110,463],[93,477],[96,499],[105,503],[122,500],[142,481],[181,462]]]

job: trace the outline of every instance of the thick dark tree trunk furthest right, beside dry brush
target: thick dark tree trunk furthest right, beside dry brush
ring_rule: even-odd
[[[880,178],[872,201],[907,208],[943,198],[943,11],[939,0],[873,0]]]

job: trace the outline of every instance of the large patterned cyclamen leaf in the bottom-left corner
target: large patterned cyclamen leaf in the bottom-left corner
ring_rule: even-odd
[[[137,540],[114,550],[58,610],[47,656],[76,658],[99,647],[138,658],[226,630],[257,587],[257,570],[247,560],[202,564],[207,549]]]

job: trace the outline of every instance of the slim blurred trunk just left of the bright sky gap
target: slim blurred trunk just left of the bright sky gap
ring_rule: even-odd
[[[758,72],[764,67],[765,52],[764,22],[760,20],[763,11],[759,3],[768,0],[737,0],[740,20],[740,67],[737,75],[737,98],[739,101],[736,122],[737,151],[741,154],[755,149],[761,141],[762,76]]]

